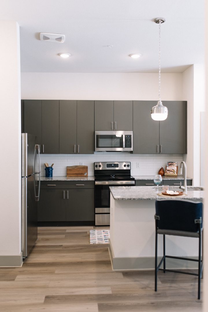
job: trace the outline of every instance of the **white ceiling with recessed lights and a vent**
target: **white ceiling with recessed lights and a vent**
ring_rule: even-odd
[[[22,72],[157,72],[157,17],[166,19],[162,72],[203,62],[204,0],[0,0],[0,7],[0,20],[20,25]],[[40,41],[40,32],[65,34],[65,42]]]

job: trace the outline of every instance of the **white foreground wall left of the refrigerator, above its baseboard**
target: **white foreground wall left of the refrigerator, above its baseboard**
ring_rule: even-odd
[[[0,22],[0,30],[1,262],[21,252],[21,96],[19,25]]]

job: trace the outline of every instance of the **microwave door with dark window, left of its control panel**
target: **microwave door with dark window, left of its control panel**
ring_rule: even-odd
[[[125,131],[95,131],[95,151],[124,151]]]

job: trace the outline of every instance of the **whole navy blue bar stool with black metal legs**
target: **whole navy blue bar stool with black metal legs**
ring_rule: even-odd
[[[155,202],[155,291],[157,291],[158,270],[198,276],[198,299],[201,291],[201,274],[203,270],[202,250],[202,230],[203,230],[203,204],[201,202],[191,202],[188,200],[156,200]],[[157,266],[157,234],[163,235],[163,257]],[[199,258],[190,259],[184,257],[167,256],[165,254],[165,235],[177,235],[199,238]],[[198,262],[198,273],[187,273],[179,270],[166,269],[166,258],[191,260]],[[160,266],[163,263],[163,269]]]

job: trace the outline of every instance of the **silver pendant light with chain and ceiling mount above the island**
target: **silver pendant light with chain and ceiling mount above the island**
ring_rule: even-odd
[[[161,66],[160,66],[160,59],[161,59],[161,44],[160,44],[160,32],[161,32],[161,23],[164,23],[164,18],[156,18],[155,23],[159,24],[159,101],[157,102],[156,106],[152,107],[151,110],[151,117],[154,120],[165,120],[167,118],[167,107],[162,105],[160,90],[161,90]]]

